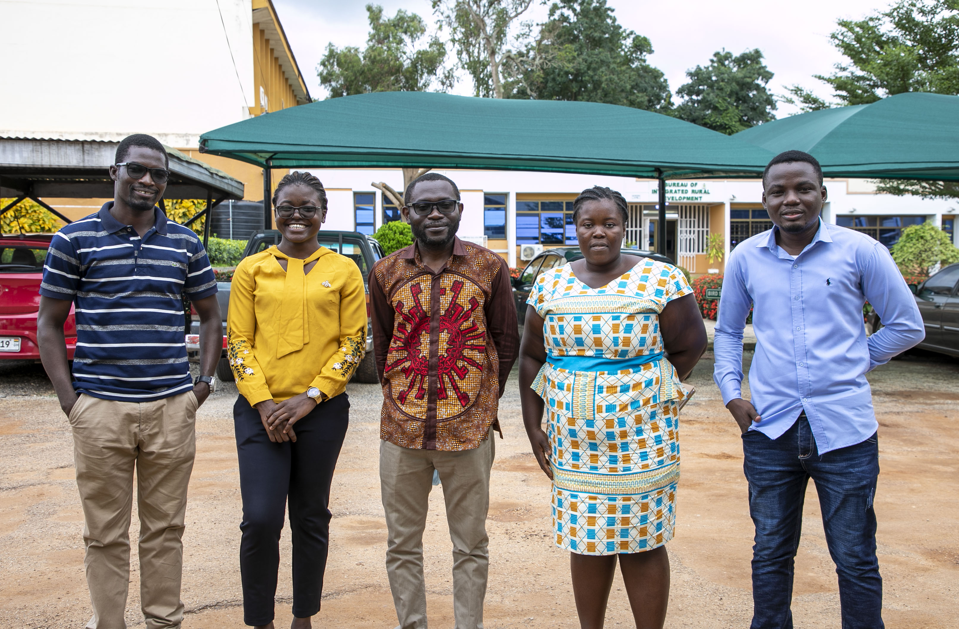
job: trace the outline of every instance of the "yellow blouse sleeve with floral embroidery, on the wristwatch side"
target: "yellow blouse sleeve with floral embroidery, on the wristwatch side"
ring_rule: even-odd
[[[365,348],[366,291],[360,268],[354,265],[339,291],[339,349],[327,361],[313,386],[331,398],[342,393],[363,361]]]

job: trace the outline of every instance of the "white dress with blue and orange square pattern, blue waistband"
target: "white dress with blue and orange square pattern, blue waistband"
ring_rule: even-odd
[[[599,289],[571,265],[543,273],[526,303],[543,317],[556,546],[643,552],[672,539],[679,401],[659,314],[692,289],[678,268],[643,259]]]

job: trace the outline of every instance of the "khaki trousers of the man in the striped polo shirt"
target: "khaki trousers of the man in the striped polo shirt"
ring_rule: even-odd
[[[147,629],[179,627],[186,492],[196,454],[193,391],[153,402],[82,394],[70,410],[83,506],[87,629],[124,629],[129,521],[136,467],[140,513],[140,603]]]

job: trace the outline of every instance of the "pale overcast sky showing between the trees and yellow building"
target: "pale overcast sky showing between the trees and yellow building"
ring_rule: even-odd
[[[369,24],[364,2],[356,0],[273,0],[283,28],[290,38],[293,54],[303,72],[311,95],[325,97],[316,77],[316,65],[328,43],[363,48]],[[386,14],[398,9],[418,13],[433,25],[435,17],[429,0],[383,0]],[[860,19],[888,5],[879,0],[804,0],[779,3],[769,0],[686,0],[683,3],[647,0],[609,0],[616,16],[627,29],[649,37],[654,54],[649,62],[666,73],[669,88],[686,82],[686,71],[705,64],[717,50],[735,54],[759,48],[766,65],[775,73],[770,82],[773,93],[783,94],[793,83],[812,89],[829,99],[830,89],[812,78],[829,75],[843,58],[830,45],[829,35],[840,18]],[[547,7],[539,4],[525,18],[541,22]],[[472,83],[463,79],[454,92],[471,94]],[[780,105],[779,116],[795,111]]]

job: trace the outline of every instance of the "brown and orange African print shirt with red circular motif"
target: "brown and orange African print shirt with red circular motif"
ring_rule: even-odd
[[[384,394],[380,438],[403,448],[479,447],[499,428],[519,350],[503,258],[457,238],[434,272],[413,243],[370,270],[369,305]]]

